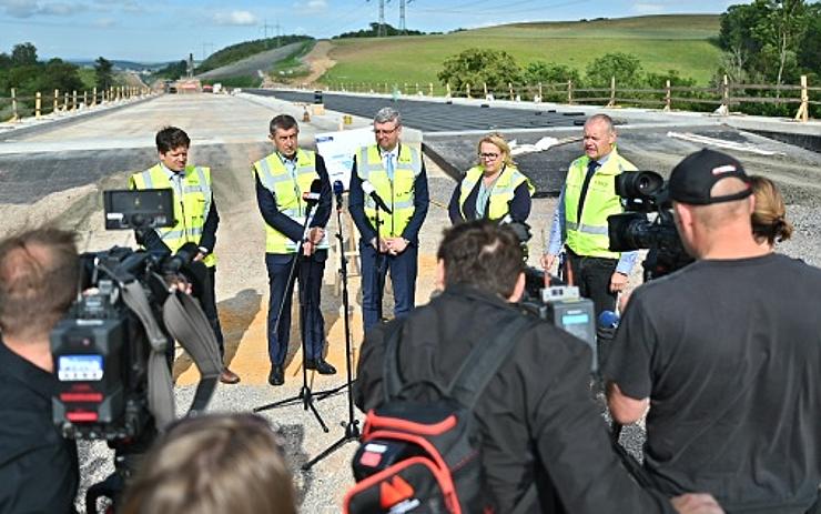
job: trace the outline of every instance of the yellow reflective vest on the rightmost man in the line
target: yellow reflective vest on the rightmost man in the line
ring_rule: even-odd
[[[616,194],[616,177],[625,171],[635,171],[636,167],[614,149],[607,162],[596,170],[590,180],[581,220],[577,220],[579,195],[587,174],[588,162],[590,159],[587,155],[576,159],[567,172],[565,182],[566,242],[578,255],[618,259],[620,253],[609,250],[607,218],[624,212],[621,201]]]

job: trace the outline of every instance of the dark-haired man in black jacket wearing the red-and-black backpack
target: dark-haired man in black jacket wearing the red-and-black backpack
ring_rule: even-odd
[[[529,315],[513,304],[525,275],[519,240],[508,226],[487,220],[458,224],[445,231],[437,256],[442,294],[366,333],[355,390],[363,411],[384,401],[386,335],[397,323],[405,384],[446,384],[475,345]],[[511,512],[531,483],[538,498],[521,505],[526,512],[672,511],[662,496],[641,490],[614,453],[589,396],[588,346],[535,316],[515,344],[474,411],[493,512]],[[683,512],[720,512],[703,495],[676,500],[682,501]]]

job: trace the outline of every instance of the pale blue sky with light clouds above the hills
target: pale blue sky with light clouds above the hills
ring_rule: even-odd
[[[379,0],[0,0],[0,51],[31,41],[40,58],[142,62],[195,59],[280,33],[327,38],[378,18]],[[722,12],[747,0],[411,0],[408,29],[448,31],[514,21]],[[504,7],[503,7],[504,6]],[[385,21],[398,27],[399,0]],[[278,26],[278,27],[277,27]]]

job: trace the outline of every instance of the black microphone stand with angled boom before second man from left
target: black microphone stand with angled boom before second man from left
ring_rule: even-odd
[[[296,279],[295,271],[296,266],[300,264],[300,260],[304,259],[303,253],[303,245],[307,239],[307,224],[311,220],[311,210],[314,208],[316,202],[308,201],[307,203],[307,211],[305,212],[305,223],[303,223],[302,226],[302,233],[303,238],[300,241],[300,243],[296,246],[296,254],[294,255],[294,261],[291,263],[291,271],[288,272],[288,285],[285,289],[285,295],[282,298],[282,303],[280,303],[280,314],[276,318],[276,324],[274,326],[274,333],[276,334],[280,329],[280,322],[282,321],[282,311],[285,306],[285,303],[287,303],[288,294],[292,294],[294,281]],[[307,258],[310,259],[310,258]],[[307,279],[307,280],[304,280]],[[304,276],[304,273],[301,273],[300,275],[300,334],[302,335],[302,389],[300,390],[300,394],[296,396],[292,396],[290,399],[280,400],[278,402],[268,403],[266,405],[262,405],[254,409],[254,412],[262,412],[267,411],[270,409],[276,409],[280,406],[286,406],[291,405],[296,402],[302,402],[303,409],[306,411],[310,409],[311,412],[314,413],[314,417],[316,417],[316,421],[320,423],[320,426],[322,426],[323,432],[327,433],[330,432],[327,425],[322,420],[322,416],[320,415],[320,412],[316,410],[316,406],[314,405],[314,394],[311,392],[311,386],[307,382],[307,337],[306,337],[306,326],[305,326],[305,319],[306,319],[306,299],[305,295],[307,294],[307,288],[306,282],[310,282],[310,280],[313,279],[311,276]]]

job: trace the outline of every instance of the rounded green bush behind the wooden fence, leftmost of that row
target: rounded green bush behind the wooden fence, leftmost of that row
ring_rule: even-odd
[[[445,59],[437,77],[455,91],[464,91],[466,84],[476,90],[486,83],[488,91],[500,92],[507,91],[509,82],[519,83],[521,70],[513,56],[504,50],[469,48]]]

